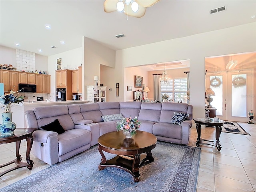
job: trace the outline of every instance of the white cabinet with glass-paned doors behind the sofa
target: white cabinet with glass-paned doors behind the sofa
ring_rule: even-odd
[[[106,86],[88,85],[87,99],[90,102],[106,102]]]

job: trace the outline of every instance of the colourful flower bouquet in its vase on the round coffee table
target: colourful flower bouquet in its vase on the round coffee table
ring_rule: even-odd
[[[126,138],[132,138],[136,134],[136,130],[140,128],[141,122],[138,121],[137,116],[135,118],[123,118],[121,122],[117,122],[117,131],[123,131]]]

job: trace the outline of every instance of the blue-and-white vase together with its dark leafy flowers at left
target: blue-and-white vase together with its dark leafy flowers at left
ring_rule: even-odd
[[[1,109],[4,109],[4,112],[1,112],[2,124],[0,124],[0,135],[12,135],[16,129],[16,124],[12,122],[11,104],[22,105],[24,98],[23,96],[14,96],[14,94],[16,92],[10,91],[9,95],[1,96],[0,98]]]

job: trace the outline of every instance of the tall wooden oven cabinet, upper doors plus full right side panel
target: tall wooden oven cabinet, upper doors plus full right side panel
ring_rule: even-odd
[[[72,70],[56,70],[56,88],[66,88],[66,100],[72,100]]]

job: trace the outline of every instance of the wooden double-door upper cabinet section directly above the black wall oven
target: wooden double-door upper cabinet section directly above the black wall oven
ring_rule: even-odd
[[[56,70],[56,88],[72,86],[72,70]]]

